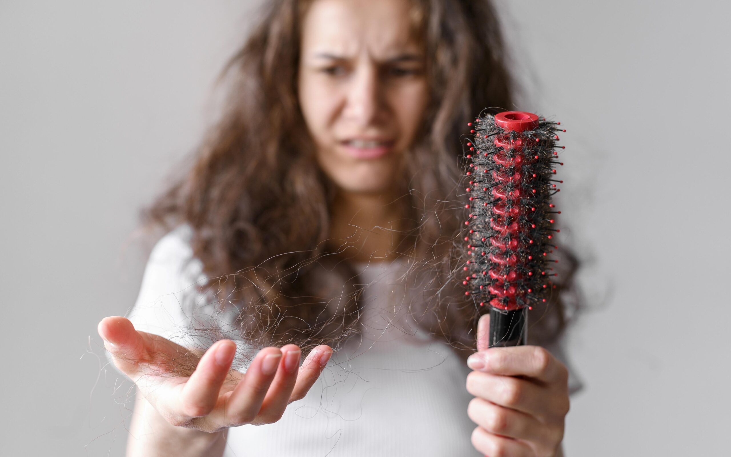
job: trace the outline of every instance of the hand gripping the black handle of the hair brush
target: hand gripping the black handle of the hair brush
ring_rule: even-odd
[[[561,456],[569,412],[568,371],[539,346],[488,349],[490,315],[477,324],[477,352],[467,391],[467,415],[477,423],[472,445],[490,457]]]

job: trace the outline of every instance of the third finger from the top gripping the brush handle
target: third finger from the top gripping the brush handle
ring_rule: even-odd
[[[501,407],[483,399],[471,399],[467,415],[478,426],[491,434],[514,439],[539,439],[541,423],[530,415],[515,409]]]

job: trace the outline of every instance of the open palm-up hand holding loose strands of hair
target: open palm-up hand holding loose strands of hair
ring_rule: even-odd
[[[300,367],[295,344],[265,347],[241,374],[230,369],[236,351],[231,340],[200,354],[136,331],[124,317],[105,317],[98,331],[115,366],[168,423],[211,433],[276,422],[287,404],[305,396],[333,353],[318,346]]]

